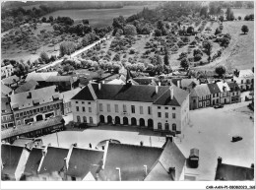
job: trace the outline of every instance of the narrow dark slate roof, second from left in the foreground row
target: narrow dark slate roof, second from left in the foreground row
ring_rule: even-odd
[[[32,148],[31,154],[25,165],[25,174],[35,174],[37,172],[40,160],[42,158],[42,149]]]

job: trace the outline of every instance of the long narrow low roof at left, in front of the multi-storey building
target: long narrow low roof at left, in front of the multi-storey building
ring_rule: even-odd
[[[18,125],[16,128],[8,128],[3,131],[1,131],[1,137],[2,140],[9,138],[9,137],[14,137],[18,135],[22,135],[25,133],[29,133],[38,129],[43,129],[46,127],[54,126],[54,125],[59,125],[61,123],[61,116],[56,116],[53,118],[50,118],[48,120],[42,120],[42,121],[37,121],[32,123],[31,125]]]

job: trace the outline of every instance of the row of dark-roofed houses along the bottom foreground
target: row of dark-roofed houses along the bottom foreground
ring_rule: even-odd
[[[32,180],[56,172],[68,181],[179,181],[196,180],[193,173],[198,173],[190,158],[198,161],[199,155],[186,158],[171,136],[160,148],[108,140],[98,149],[82,149],[77,144],[66,149],[43,146],[39,139],[18,141],[1,146],[4,180]]]

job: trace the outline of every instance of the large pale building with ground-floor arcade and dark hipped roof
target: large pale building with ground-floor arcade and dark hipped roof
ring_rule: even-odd
[[[175,86],[89,84],[72,100],[75,122],[134,125],[181,133],[189,122],[189,95]]]

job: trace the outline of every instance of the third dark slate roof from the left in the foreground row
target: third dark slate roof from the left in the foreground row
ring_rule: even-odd
[[[64,167],[64,158],[67,158],[69,149],[48,147],[46,157],[43,159],[40,173],[51,173],[61,171]]]

